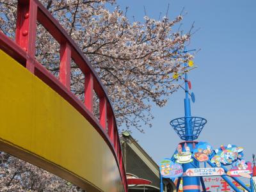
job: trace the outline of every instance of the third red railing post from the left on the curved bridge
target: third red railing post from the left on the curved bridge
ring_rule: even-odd
[[[84,78],[84,105],[93,113],[93,75],[89,73]]]

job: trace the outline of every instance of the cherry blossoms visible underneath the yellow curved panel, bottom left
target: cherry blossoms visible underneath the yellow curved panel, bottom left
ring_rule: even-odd
[[[83,191],[32,164],[0,152],[0,191]]]

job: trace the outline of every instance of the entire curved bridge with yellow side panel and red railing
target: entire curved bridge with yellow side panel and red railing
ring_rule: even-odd
[[[59,79],[35,60],[36,22],[60,43]],[[113,108],[90,62],[38,0],[19,0],[16,28],[15,42],[0,32],[0,150],[88,191],[127,191]],[[70,92],[71,58],[84,103]]]

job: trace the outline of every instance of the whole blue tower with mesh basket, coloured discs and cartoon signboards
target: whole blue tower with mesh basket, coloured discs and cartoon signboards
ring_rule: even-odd
[[[184,52],[188,51],[185,49]],[[180,139],[184,141],[179,143],[172,157],[165,158],[160,162],[161,180],[163,177],[177,179],[177,191],[179,191],[182,179],[182,190],[194,192],[201,191],[201,189],[207,191],[203,177],[219,176],[236,192],[241,190],[229,178],[235,180],[236,184],[239,184],[246,191],[255,191],[255,182],[253,182],[253,180],[256,181],[254,155],[252,167],[252,163],[243,159],[243,147],[228,144],[227,146],[221,145],[220,148],[214,150],[207,142],[195,141],[207,120],[202,117],[191,116],[189,95],[193,102],[195,102],[195,95],[193,92],[189,93],[191,82],[188,80],[187,73],[189,67],[193,67],[193,61],[184,63],[184,67],[186,68],[184,77],[182,77],[183,74],[174,74],[173,79],[184,79],[185,88],[182,87],[182,89],[186,94],[184,99],[185,116],[175,118],[170,122]],[[228,170],[230,166],[231,168]],[[250,187],[246,186],[238,177],[250,179]],[[162,192],[162,182],[160,189]]]

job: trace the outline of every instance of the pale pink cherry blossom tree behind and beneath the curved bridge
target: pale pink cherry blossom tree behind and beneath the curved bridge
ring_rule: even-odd
[[[173,31],[184,15],[156,20],[145,15],[131,22],[115,0],[40,0],[90,60],[108,91],[118,125],[138,129],[151,126],[151,104],[162,107],[179,88],[188,69],[182,63],[193,55],[182,53],[191,38]],[[107,7],[112,6],[113,11]],[[0,31],[15,39],[17,0],[0,0]],[[127,11],[127,10],[126,10]],[[192,28],[191,28],[192,29]],[[36,59],[59,76],[60,45],[38,23]],[[173,78],[173,74],[174,77]],[[72,61],[71,90],[84,99],[84,76]],[[95,97],[97,102],[97,97]],[[97,115],[98,111],[95,111]],[[36,166],[0,153],[1,191],[76,191],[75,186]]]

